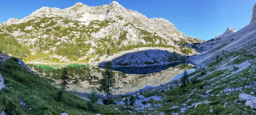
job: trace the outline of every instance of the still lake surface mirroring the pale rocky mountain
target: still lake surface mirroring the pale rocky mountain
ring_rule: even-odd
[[[116,84],[112,91],[112,94],[125,94],[143,89],[145,86],[159,86],[166,84],[179,73],[182,73],[185,69],[193,67],[193,65],[183,64],[184,62],[175,63],[173,65],[161,65],[154,67],[143,67],[140,68],[119,68],[124,70],[123,72],[114,71]],[[68,90],[89,93],[92,87],[99,87],[100,79],[102,79],[102,71],[104,69],[81,64],[73,65],[28,65],[33,71],[44,77],[53,85],[58,86],[60,84],[60,75],[62,69],[67,67],[69,73]],[[161,70],[160,68],[166,68]],[[126,69],[126,70],[125,70]],[[140,69],[145,75],[142,75],[136,71]],[[159,70],[160,69],[160,70]],[[115,70],[115,69],[114,69]],[[128,71],[129,70],[129,71]],[[125,71],[129,72],[126,74]],[[148,71],[152,71],[151,73]],[[148,73],[148,74],[146,74]]]

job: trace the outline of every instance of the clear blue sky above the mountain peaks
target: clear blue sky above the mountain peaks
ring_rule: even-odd
[[[146,17],[162,17],[186,35],[209,40],[227,27],[240,30],[248,25],[255,0],[116,0]],[[1,0],[0,22],[21,19],[42,6],[67,8],[81,2],[88,6],[110,4],[112,0]]]

